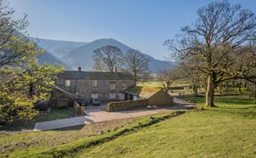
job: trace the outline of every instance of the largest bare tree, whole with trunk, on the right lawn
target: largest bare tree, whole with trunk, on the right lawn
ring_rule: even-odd
[[[165,45],[180,63],[194,57],[199,59],[197,69],[208,77],[205,106],[214,107],[214,89],[218,83],[242,77],[256,67],[252,51],[256,18],[251,11],[227,1],[208,4],[197,15],[195,23],[181,29],[177,40],[167,40]],[[246,63],[236,63],[243,59]]]

